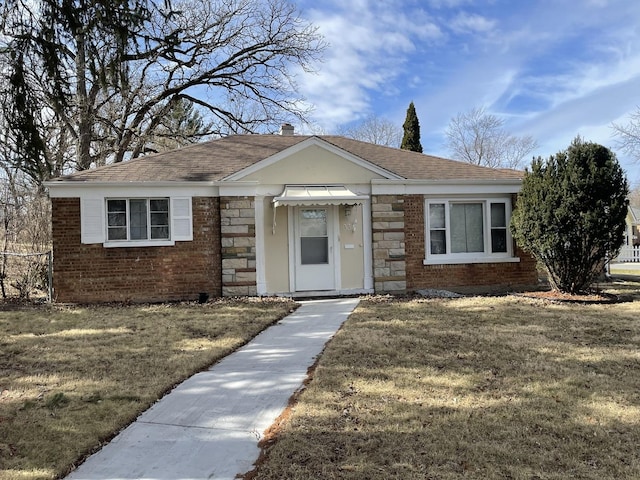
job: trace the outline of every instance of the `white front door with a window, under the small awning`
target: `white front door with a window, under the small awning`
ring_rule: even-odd
[[[294,209],[295,291],[335,290],[335,207]]]

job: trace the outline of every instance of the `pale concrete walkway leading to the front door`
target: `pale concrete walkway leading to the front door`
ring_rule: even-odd
[[[232,480],[250,471],[263,432],[358,299],[301,303],[243,348],[180,384],[67,478]]]

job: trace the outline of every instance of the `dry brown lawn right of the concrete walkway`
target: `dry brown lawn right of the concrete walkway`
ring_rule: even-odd
[[[640,285],[617,288],[361,302],[253,478],[640,478]]]

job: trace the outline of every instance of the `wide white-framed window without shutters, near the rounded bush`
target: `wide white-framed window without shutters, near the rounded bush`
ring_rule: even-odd
[[[425,263],[517,261],[511,258],[509,199],[427,200]]]

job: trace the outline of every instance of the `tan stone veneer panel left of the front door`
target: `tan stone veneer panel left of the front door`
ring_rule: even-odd
[[[222,296],[257,295],[254,197],[220,198]]]

